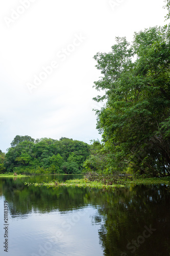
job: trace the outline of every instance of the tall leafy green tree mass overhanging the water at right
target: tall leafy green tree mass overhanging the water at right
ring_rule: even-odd
[[[170,175],[169,28],[135,33],[131,45],[125,37],[116,42],[94,56],[103,75],[94,87],[105,90],[94,100],[107,100],[96,111],[97,128],[117,170]]]

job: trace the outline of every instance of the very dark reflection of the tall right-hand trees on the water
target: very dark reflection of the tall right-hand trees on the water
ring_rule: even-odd
[[[96,216],[104,222],[99,230],[104,255],[169,255],[169,199],[166,185],[104,193]]]

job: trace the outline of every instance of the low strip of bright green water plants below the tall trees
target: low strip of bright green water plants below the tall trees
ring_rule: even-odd
[[[151,184],[170,184],[170,177],[164,178],[142,178],[142,179],[134,179],[132,181],[122,181],[121,184],[112,184],[107,185],[100,181],[89,181],[88,179],[74,179],[74,180],[66,180],[66,181],[54,181],[50,183],[25,183],[25,185],[34,185],[34,186],[47,186],[47,187],[91,187],[91,188],[116,188],[116,187],[126,187],[129,185],[151,185]]]

